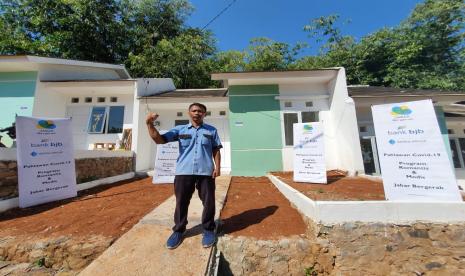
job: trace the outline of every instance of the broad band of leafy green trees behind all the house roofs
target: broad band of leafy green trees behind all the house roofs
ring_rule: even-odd
[[[352,84],[465,90],[465,3],[424,0],[394,28],[360,40],[343,35],[339,15],[304,27],[316,56],[255,38],[218,52],[210,32],[185,25],[188,0],[2,0],[0,54],[124,63],[134,77],[170,77],[177,87],[215,86],[211,72],[343,66]]]

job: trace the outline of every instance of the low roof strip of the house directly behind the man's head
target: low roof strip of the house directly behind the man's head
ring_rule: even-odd
[[[147,99],[164,99],[164,98],[219,98],[226,97],[227,88],[208,88],[208,89],[176,89],[173,91],[159,93],[153,96],[144,96]]]

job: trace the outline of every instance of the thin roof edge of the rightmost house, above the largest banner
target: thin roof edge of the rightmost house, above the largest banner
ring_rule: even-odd
[[[393,96],[465,96],[465,91],[448,91],[438,89],[412,89],[368,85],[347,86],[349,96],[355,98],[365,97],[393,97]]]

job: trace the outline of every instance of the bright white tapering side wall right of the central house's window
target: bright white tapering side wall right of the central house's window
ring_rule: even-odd
[[[347,92],[345,70],[339,69],[336,79],[328,84],[330,90],[330,114],[325,125],[327,142],[326,159],[330,169],[364,172],[355,104]]]

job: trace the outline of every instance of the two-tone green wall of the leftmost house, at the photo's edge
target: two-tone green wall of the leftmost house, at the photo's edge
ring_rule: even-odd
[[[36,88],[36,72],[0,73],[0,129],[9,127],[15,116],[32,116]],[[11,146],[6,133],[0,133],[2,143]]]

